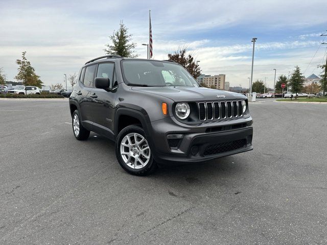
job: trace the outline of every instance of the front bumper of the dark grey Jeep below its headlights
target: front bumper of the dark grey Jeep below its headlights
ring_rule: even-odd
[[[234,126],[242,127],[234,127]],[[238,118],[185,125],[174,117],[151,123],[150,142],[155,161],[159,164],[202,162],[241,152],[251,151],[252,118]],[[227,127],[228,126],[228,127]],[[215,131],[219,129],[220,131]],[[171,148],[167,135],[183,134],[178,148]]]

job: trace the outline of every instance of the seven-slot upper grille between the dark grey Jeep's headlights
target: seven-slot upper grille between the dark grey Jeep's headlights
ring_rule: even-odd
[[[199,102],[199,119],[218,120],[225,118],[243,116],[243,103],[245,101],[214,101],[214,102]]]

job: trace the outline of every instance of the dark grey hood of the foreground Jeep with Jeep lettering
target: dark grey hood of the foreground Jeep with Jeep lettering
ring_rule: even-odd
[[[217,101],[246,99],[240,93],[228,92],[203,87],[136,87],[132,90],[153,93],[167,97],[175,102],[188,101]]]

